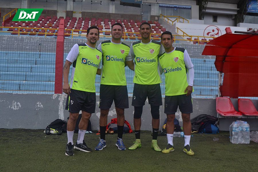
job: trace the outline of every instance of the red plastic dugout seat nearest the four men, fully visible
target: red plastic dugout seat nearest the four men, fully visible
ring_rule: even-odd
[[[228,97],[216,98],[216,110],[218,114],[222,116],[242,116],[240,112],[237,112]]]

